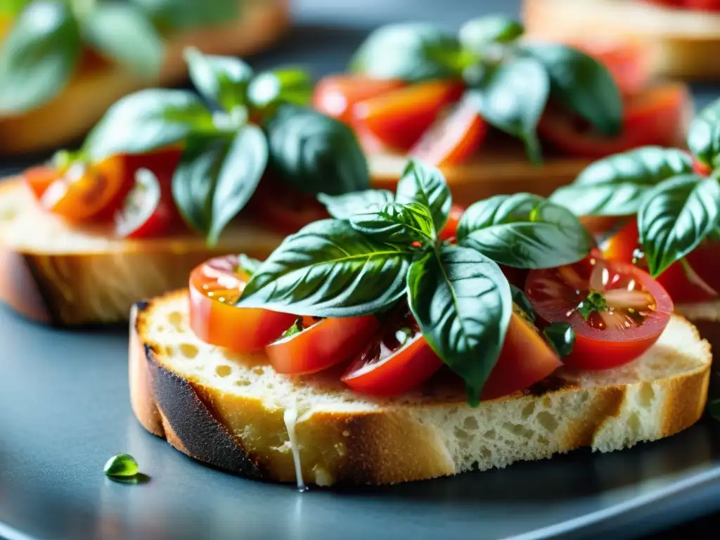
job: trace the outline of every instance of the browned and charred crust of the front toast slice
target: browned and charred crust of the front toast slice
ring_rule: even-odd
[[[129,354],[130,396],[132,410],[140,423],[156,436],[184,454],[244,476],[293,482],[294,469],[287,456],[285,462],[265,462],[263,456],[244,449],[243,440],[233,436],[221,420],[218,406],[233,399],[233,411],[263,419],[267,426],[282,430],[282,411],[269,411],[259,399],[228,397],[220,390],[184,379],[163,364],[163,347],[153,343],[145,333],[147,318],[152,316],[153,302],[173,300],[186,290],[172,292],[152,302],[140,302],[132,310]],[[684,320],[684,319],[683,319]],[[687,321],[685,321],[687,323]],[[690,324],[690,323],[688,323]],[[697,330],[693,331],[698,340]],[[667,396],[662,403],[660,431],[652,439],[673,435],[692,426],[701,417],[707,399],[710,377],[710,346],[703,341],[706,363],[683,377],[667,379]],[[550,392],[573,392],[564,387]],[[621,414],[628,389],[611,385],[597,390],[593,397],[593,414],[573,424],[560,444],[559,452],[595,447],[595,437]],[[504,399],[538,399],[535,396]],[[300,429],[300,425],[298,426]],[[302,423],[305,433],[299,436],[317,438],[324,446],[341,445],[342,456],[325,456],[324,466],[332,482],[383,485],[455,474],[457,471],[444,451],[433,426],[423,426],[402,408],[355,413],[315,413],[312,421]],[[630,441],[629,446],[637,441]],[[541,453],[540,453],[541,454]],[[536,459],[552,453],[538,455]],[[480,467],[483,468],[482,466]],[[304,471],[307,482],[307,470]],[[323,478],[325,474],[323,474]],[[318,480],[318,475],[315,475]],[[312,482],[312,477],[310,477]]]

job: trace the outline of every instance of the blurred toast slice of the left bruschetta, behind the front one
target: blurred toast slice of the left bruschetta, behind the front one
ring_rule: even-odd
[[[21,180],[8,179],[0,181],[0,301],[42,323],[120,323],[133,302],[186,287],[207,258],[265,258],[282,238],[233,222],[212,249],[199,235],[117,239],[109,224],[68,227],[42,211]]]

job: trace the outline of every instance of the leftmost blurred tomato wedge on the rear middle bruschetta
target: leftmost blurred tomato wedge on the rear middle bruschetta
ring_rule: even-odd
[[[315,86],[315,91],[312,93],[312,107],[348,123],[351,120],[351,110],[357,102],[402,86],[405,86],[405,82],[400,79],[330,75],[321,78]]]

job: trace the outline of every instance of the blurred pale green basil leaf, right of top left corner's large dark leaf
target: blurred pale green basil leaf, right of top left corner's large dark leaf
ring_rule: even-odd
[[[81,24],[86,42],[138,75],[160,73],[165,46],[153,24],[136,6],[96,4]]]

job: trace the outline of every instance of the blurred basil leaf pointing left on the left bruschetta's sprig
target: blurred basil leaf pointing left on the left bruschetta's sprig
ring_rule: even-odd
[[[179,143],[193,133],[213,132],[212,114],[189,91],[147,89],[112,105],[83,144],[99,161],[120,153],[145,153]]]

